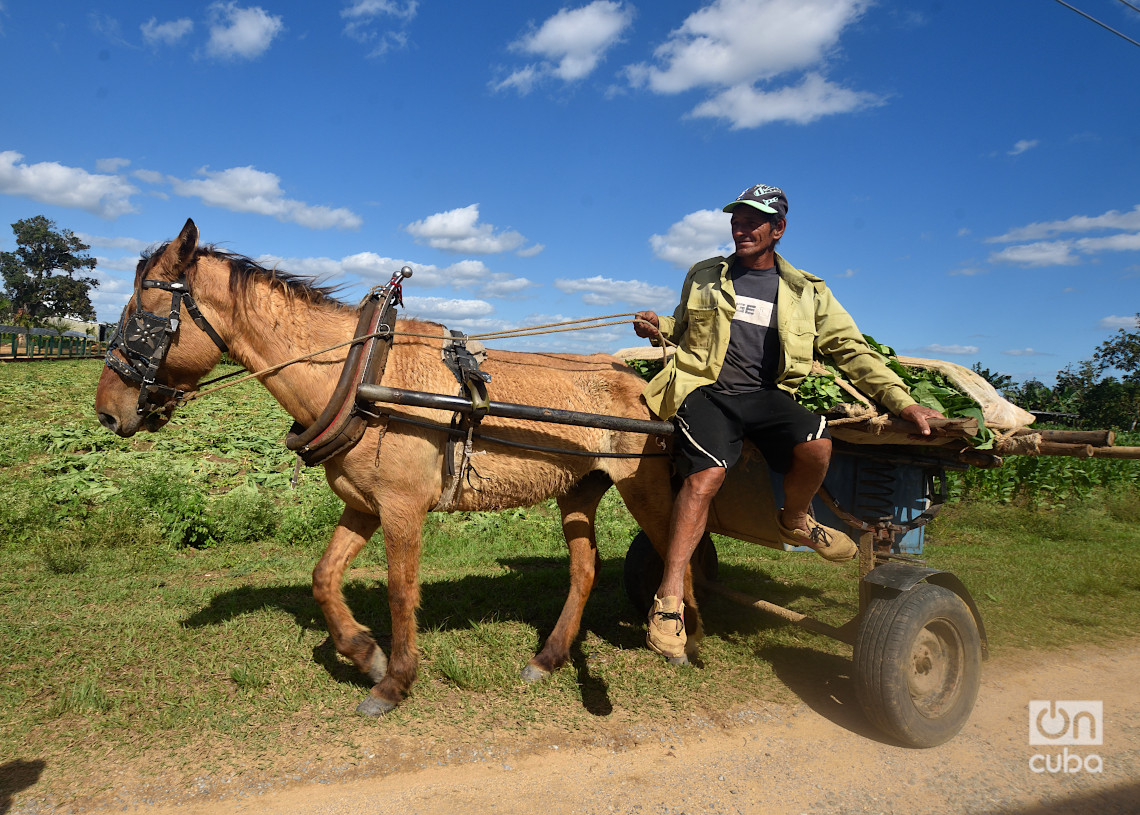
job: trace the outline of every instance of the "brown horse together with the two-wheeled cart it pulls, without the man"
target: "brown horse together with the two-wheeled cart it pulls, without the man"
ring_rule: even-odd
[[[262,382],[295,419],[286,446],[299,462],[324,466],[345,503],[314,570],[314,596],[336,650],[375,683],[357,708],[367,716],[392,710],[415,680],[417,562],[426,513],[556,498],[571,590],[523,677],[538,680],[565,665],[595,578],[593,523],[602,495],[616,487],[658,538],[668,528],[671,502],[662,492],[668,466],[654,439],[670,435],[673,425],[643,418],[641,380],[612,357],[491,351],[480,369],[472,337],[449,336],[438,324],[397,321],[400,280],[409,269],[369,293],[359,309],[349,309],[306,279],[198,247],[197,241],[188,220],[178,238],[139,261],[136,291],[96,393],[100,423],[124,438],[160,430],[178,406],[228,386],[202,390],[222,353],[254,372],[229,384]],[[332,361],[299,364],[315,358]],[[491,373],[497,394],[511,401],[489,399]],[[447,396],[456,380],[463,396]],[[849,622],[832,627],[719,586],[708,536],[693,561],[698,587],[852,644],[869,718],[906,744],[937,744],[961,730],[986,655],[985,629],[969,592],[953,574],[920,560],[923,524],[945,499],[946,470],[997,466],[1004,454],[1091,456],[1114,449],[1110,434],[1047,438],[1029,429],[1033,417],[1024,411],[993,421],[990,408],[1003,400],[990,391],[977,399],[987,408],[986,424],[1001,430],[990,451],[963,440],[977,423],[971,431],[962,419],[936,427],[933,443],[907,443],[910,425],[893,424],[865,399],[856,411],[831,421],[837,455],[815,511],[858,538],[858,613]],[[522,404],[556,399],[573,409]],[[450,414],[450,424],[438,419],[439,411]],[[537,430],[552,425],[562,427]],[[477,453],[478,471],[469,466],[477,441],[486,448]],[[1115,457],[1140,457],[1140,448],[1115,449]],[[482,488],[469,489],[472,473]],[[708,531],[782,548],[769,525],[780,490],[763,461],[746,456],[730,472]],[[341,588],[349,563],[381,528],[391,659],[352,617]],[[660,570],[649,537],[637,536],[626,556],[625,585],[642,611]]]

